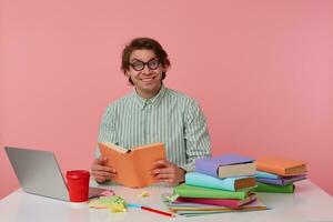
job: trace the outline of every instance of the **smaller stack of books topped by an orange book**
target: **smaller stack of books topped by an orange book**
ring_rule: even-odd
[[[306,164],[302,161],[262,157],[255,164],[255,192],[293,193],[294,182],[306,179]]]

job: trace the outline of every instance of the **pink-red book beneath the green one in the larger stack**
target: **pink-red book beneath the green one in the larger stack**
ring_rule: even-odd
[[[226,208],[238,209],[246,203],[251,203],[256,200],[255,193],[251,193],[248,198],[238,199],[206,199],[206,198],[178,198],[176,202],[188,203],[201,203],[208,205],[223,205]]]

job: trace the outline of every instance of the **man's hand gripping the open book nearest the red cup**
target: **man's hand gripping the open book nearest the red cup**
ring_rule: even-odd
[[[115,169],[105,165],[107,161],[107,158],[100,157],[94,159],[91,164],[91,174],[99,183],[112,180],[117,174]]]

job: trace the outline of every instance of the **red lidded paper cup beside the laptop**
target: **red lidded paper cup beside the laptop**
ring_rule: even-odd
[[[88,201],[89,194],[89,178],[90,173],[87,170],[67,171],[67,186],[69,190],[70,201],[80,203]]]

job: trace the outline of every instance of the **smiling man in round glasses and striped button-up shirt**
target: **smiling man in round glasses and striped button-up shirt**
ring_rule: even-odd
[[[109,104],[98,140],[124,148],[163,142],[168,160],[154,163],[153,175],[158,182],[176,185],[188,171],[194,170],[194,160],[210,157],[211,150],[199,104],[163,85],[169,67],[168,53],[153,39],[137,38],[124,48],[121,69],[134,91]],[[117,174],[105,162],[97,150],[91,165],[97,182],[112,180]]]

